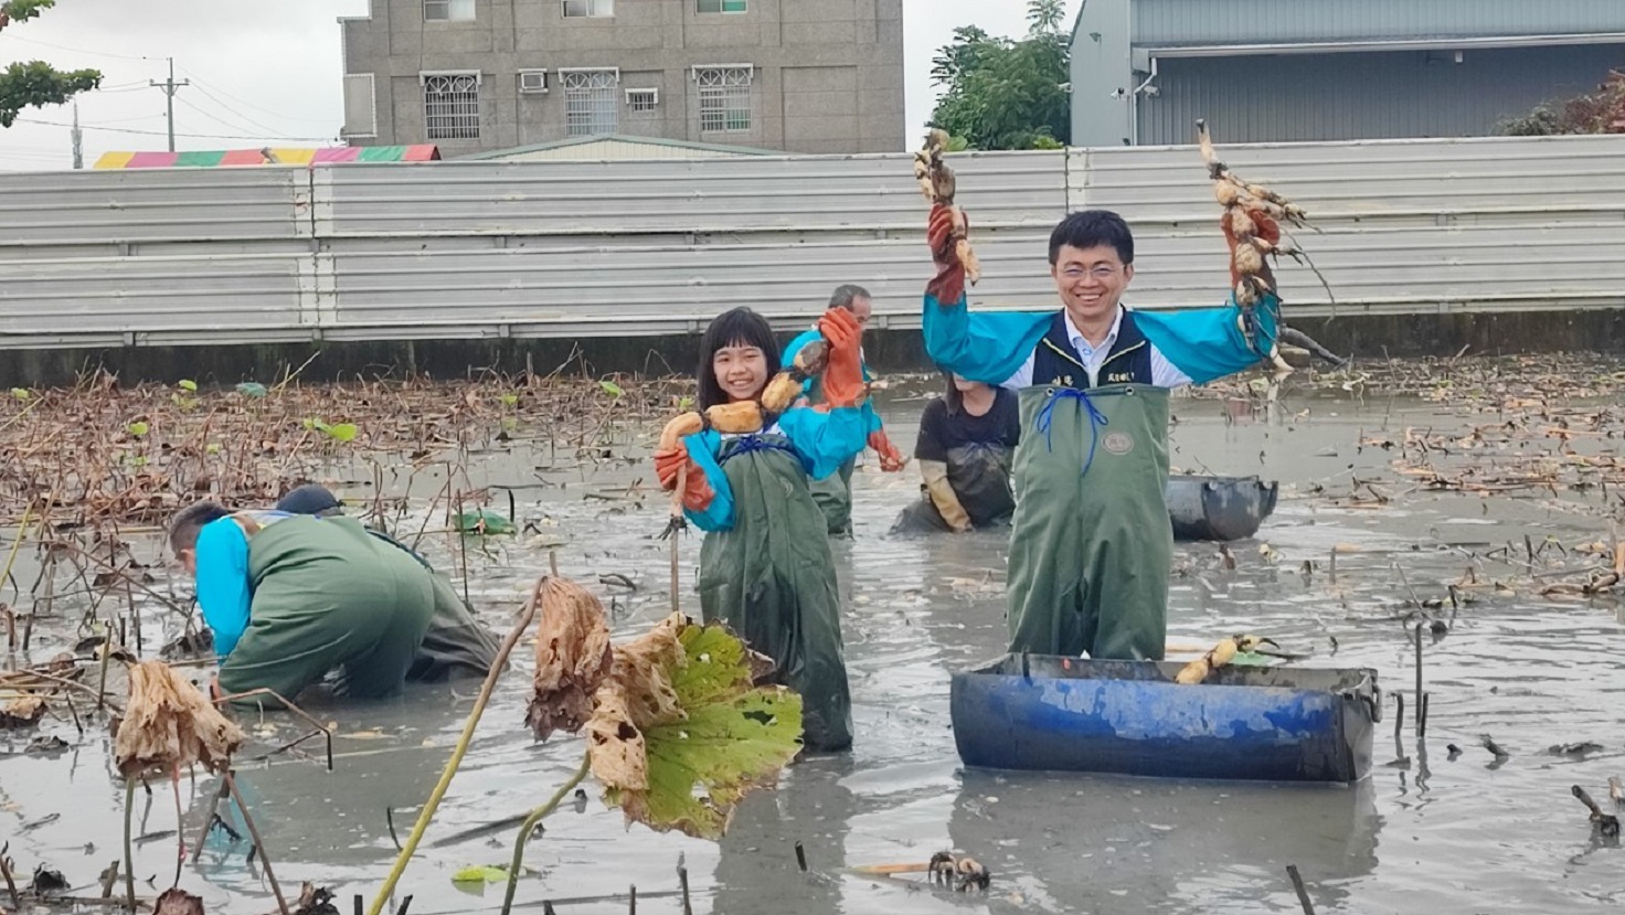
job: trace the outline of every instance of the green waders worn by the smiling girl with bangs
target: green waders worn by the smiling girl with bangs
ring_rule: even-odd
[[[700,546],[700,611],[774,658],[774,681],[801,694],[808,749],[852,746],[835,561],[801,460],[782,436],[725,440],[733,527]]]

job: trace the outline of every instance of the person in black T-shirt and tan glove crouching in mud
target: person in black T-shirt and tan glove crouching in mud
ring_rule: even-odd
[[[920,416],[915,460],[921,496],[892,533],[965,533],[1009,523],[1011,455],[1020,440],[1016,392],[947,375],[947,392]]]

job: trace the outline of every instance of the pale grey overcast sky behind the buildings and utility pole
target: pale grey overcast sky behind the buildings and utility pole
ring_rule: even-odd
[[[1068,2],[1068,20],[1081,0]],[[109,150],[164,150],[167,75],[192,86],[176,94],[177,150],[234,150],[281,140],[286,146],[338,143],[340,39],[336,18],[364,15],[367,0],[58,0],[54,10],[0,33],[0,67],[46,60],[94,67],[102,91],[80,96],[84,167]],[[931,57],[952,29],[1025,31],[1025,0],[904,0],[908,141],[923,132],[936,89]],[[23,112],[0,130],[0,169],[72,166],[67,106]],[[39,124],[50,122],[50,124]],[[115,132],[107,128],[119,128]],[[187,137],[182,137],[187,135]]]

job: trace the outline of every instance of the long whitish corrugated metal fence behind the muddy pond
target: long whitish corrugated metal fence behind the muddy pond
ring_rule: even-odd
[[[1625,137],[1224,148],[1310,210],[1344,312],[1625,304]],[[1196,151],[956,158],[978,307],[1051,307],[1046,237],[1136,229],[1138,307],[1217,304]],[[931,273],[907,156],[440,163],[0,176],[0,346],[626,336],[748,304],[804,323],[840,283],[916,327]],[[1332,302],[1280,268],[1289,314]]]

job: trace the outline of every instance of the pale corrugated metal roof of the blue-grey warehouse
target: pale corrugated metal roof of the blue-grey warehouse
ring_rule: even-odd
[[[1620,0],[1089,0],[1133,3],[1147,46],[1625,33]],[[1087,5],[1086,13],[1087,15]]]

